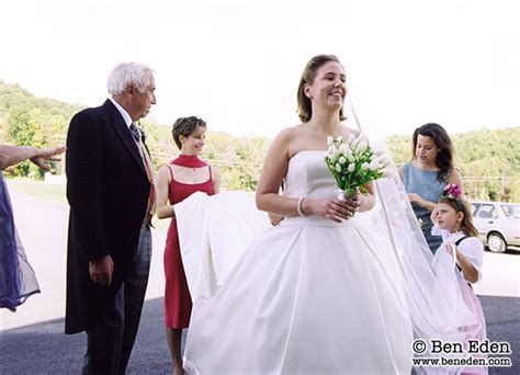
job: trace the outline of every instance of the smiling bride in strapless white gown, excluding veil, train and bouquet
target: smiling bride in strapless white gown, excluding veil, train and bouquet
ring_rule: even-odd
[[[410,373],[397,264],[378,254],[391,243],[361,214],[374,205],[373,188],[338,201],[324,162],[328,136],[357,134],[341,124],[346,94],[335,56],[307,64],[297,93],[303,123],[274,139],[256,196],[258,208],[285,219],[249,245],[211,298],[195,300],[188,373]]]

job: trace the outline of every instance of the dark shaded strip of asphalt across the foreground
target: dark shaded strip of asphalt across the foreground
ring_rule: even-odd
[[[481,297],[490,341],[511,344],[512,367],[491,367],[490,374],[520,374],[520,298]],[[171,374],[162,326],[162,298],[147,300],[128,364],[128,374]],[[0,333],[1,374],[79,374],[86,334],[66,336],[64,319]]]

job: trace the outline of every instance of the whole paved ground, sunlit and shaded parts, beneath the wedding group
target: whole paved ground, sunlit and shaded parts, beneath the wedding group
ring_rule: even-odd
[[[11,194],[20,236],[42,294],[16,312],[0,309],[0,374],[79,374],[86,334],[64,334],[67,207]],[[154,230],[154,257],[139,332],[128,374],[171,374],[163,331],[162,249],[165,230]],[[490,341],[507,341],[511,367],[490,374],[520,374],[520,253],[485,254],[485,279],[475,285]],[[509,297],[506,297],[509,296]]]

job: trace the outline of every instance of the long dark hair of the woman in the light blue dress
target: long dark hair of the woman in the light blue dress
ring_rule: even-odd
[[[414,136],[411,137],[414,144],[411,148],[411,159],[417,157],[416,149],[419,135],[430,137],[436,143],[437,148],[439,148],[439,154],[436,158],[436,166],[439,168],[437,179],[444,181],[453,170],[453,144],[448,132],[436,123],[428,123],[415,129]]]

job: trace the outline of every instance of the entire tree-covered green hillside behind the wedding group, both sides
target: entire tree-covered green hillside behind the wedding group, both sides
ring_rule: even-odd
[[[70,118],[83,107],[36,98],[18,84],[0,80],[0,144],[36,147],[65,144]],[[179,154],[170,125],[147,120],[142,125],[157,168]],[[457,151],[455,163],[471,198],[520,202],[520,126],[452,134],[452,139]],[[393,136],[386,140],[397,166],[410,159],[410,136]],[[255,190],[270,141],[210,130],[204,158],[222,170],[224,189]],[[56,166],[56,170],[61,169]],[[30,162],[9,168],[4,174],[43,178]]]

